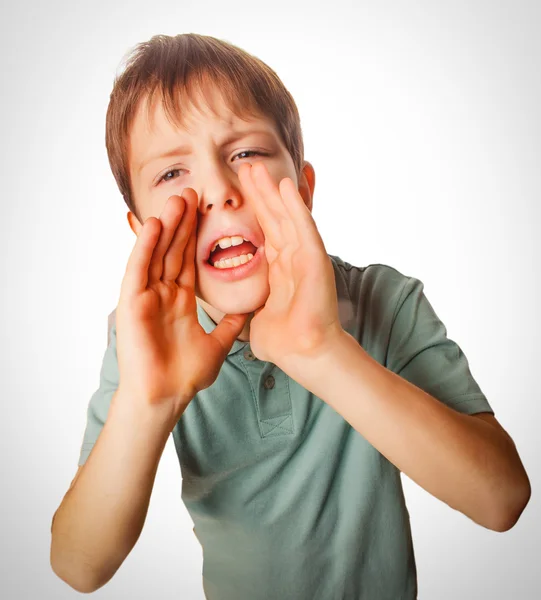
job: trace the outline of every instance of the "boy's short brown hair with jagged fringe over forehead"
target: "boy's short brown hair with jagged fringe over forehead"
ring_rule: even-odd
[[[107,109],[105,144],[109,164],[128,208],[140,218],[130,186],[129,130],[139,105],[148,98],[148,113],[156,91],[168,118],[182,126],[181,101],[198,106],[194,91],[205,84],[220,90],[230,110],[270,118],[293,159],[297,177],[304,161],[300,117],[291,94],[263,61],[223,40],[195,33],[155,35],[128,54],[126,68],[114,81]],[[209,108],[212,101],[205,95]]]

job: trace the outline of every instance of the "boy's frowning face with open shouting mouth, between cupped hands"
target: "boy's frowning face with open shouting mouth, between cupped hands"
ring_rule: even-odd
[[[149,122],[146,100],[141,102],[130,132],[128,160],[134,201],[143,222],[150,216],[159,218],[170,196],[180,195],[186,187],[196,191],[195,292],[203,308],[219,322],[225,313],[253,313],[269,295],[264,235],[249,199],[244,197],[239,167],[261,161],[276,185],[290,177],[310,210],[315,178],[312,166],[305,163],[300,181],[297,179],[293,159],[270,120],[244,121],[223,101],[214,105],[220,107],[218,116],[204,101],[201,112],[193,105],[187,107],[184,129],[167,119],[161,100],[154,103]],[[128,221],[138,234],[142,224],[131,212]],[[220,238],[238,236],[248,242],[243,241],[238,249],[233,245],[210,254]],[[239,241],[234,239],[233,244]],[[220,246],[227,244],[225,241]],[[220,256],[225,259],[241,254],[253,254],[254,258],[239,267],[209,264],[210,259],[224,267],[226,263],[217,260]]]

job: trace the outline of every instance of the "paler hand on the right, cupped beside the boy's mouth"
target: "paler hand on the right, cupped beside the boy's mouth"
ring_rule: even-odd
[[[277,187],[263,163],[238,172],[265,235],[270,294],[250,324],[260,359],[293,376],[295,360],[320,355],[343,333],[334,269],[295,183]]]

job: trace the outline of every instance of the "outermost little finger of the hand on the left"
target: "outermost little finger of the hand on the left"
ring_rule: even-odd
[[[144,291],[148,285],[148,271],[156,243],[160,237],[162,224],[156,217],[149,217],[139,231],[135,245],[128,258],[126,272],[122,279],[121,293],[128,296]]]

